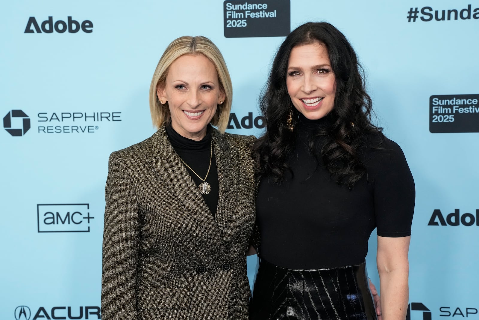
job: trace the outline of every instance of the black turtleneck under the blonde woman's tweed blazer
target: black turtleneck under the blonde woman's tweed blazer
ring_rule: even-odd
[[[165,130],[166,134],[168,135],[168,139],[170,139],[171,146],[173,147],[173,149],[180,156],[180,158],[188,166],[190,166],[191,169],[193,169],[194,172],[196,172],[201,178],[205,178],[206,173],[208,172],[210,155],[212,155],[211,168],[208,173],[208,177],[206,178],[206,182],[211,185],[211,191],[208,194],[202,194],[202,196],[211,213],[215,215],[218,206],[219,185],[215,150],[211,150],[211,148],[213,147],[211,143],[212,127],[208,125],[208,127],[206,128],[206,135],[200,141],[191,140],[183,137],[178,132],[176,132],[171,127],[171,125],[167,125],[165,127]],[[203,180],[198,178],[190,168],[188,168],[187,166],[185,166],[185,168],[190,173],[191,178],[193,178],[196,187],[198,187],[200,183],[203,182]],[[201,194],[200,191],[198,191],[198,194]]]

